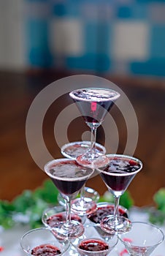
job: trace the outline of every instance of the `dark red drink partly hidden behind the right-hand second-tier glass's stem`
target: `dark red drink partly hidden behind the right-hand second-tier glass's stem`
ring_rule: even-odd
[[[123,211],[122,208],[118,208],[120,216],[128,218],[128,214],[126,211]],[[91,222],[94,223],[100,223],[101,219],[104,219],[108,215],[113,215],[114,214],[114,206],[100,206],[97,208],[93,214],[88,215],[88,219],[91,220]]]

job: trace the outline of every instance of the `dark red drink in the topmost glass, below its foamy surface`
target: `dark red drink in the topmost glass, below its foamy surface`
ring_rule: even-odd
[[[114,102],[111,100],[104,102],[74,101],[77,102],[77,108],[79,108],[80,113],[82,113],[85,122],[88,123],[101,124],[102,121],[104,121],[104,117],[107,115],[107,111],[114,105]]]

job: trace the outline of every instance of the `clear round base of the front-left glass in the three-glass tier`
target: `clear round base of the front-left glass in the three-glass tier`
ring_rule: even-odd
[[[51,231],[58,239],[72,239],[82,236],[84,227],[80,222],[71,220],[68,225],[65,222],[57,222]]]

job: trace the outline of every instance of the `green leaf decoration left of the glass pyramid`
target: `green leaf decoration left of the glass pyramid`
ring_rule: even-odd
[[[16,214],[27,217],[31,228],[42,226],[42,212],[45,208],[58,203],[58,189],[51,180],[45,180],[41,187],[34,191],[24,190],[12,202],[0,200],[0,225],[8,229],[15,225]],[[23,218],[22,218],[23,219]]]

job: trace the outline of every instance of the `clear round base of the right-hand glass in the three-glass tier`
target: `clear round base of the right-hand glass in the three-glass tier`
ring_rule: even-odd
[[[114,216],[107,216],[101,220],[100,227],[107,233],[125,233],[131,230],[131,221],[126,217],[118,217],[118,222]]]

